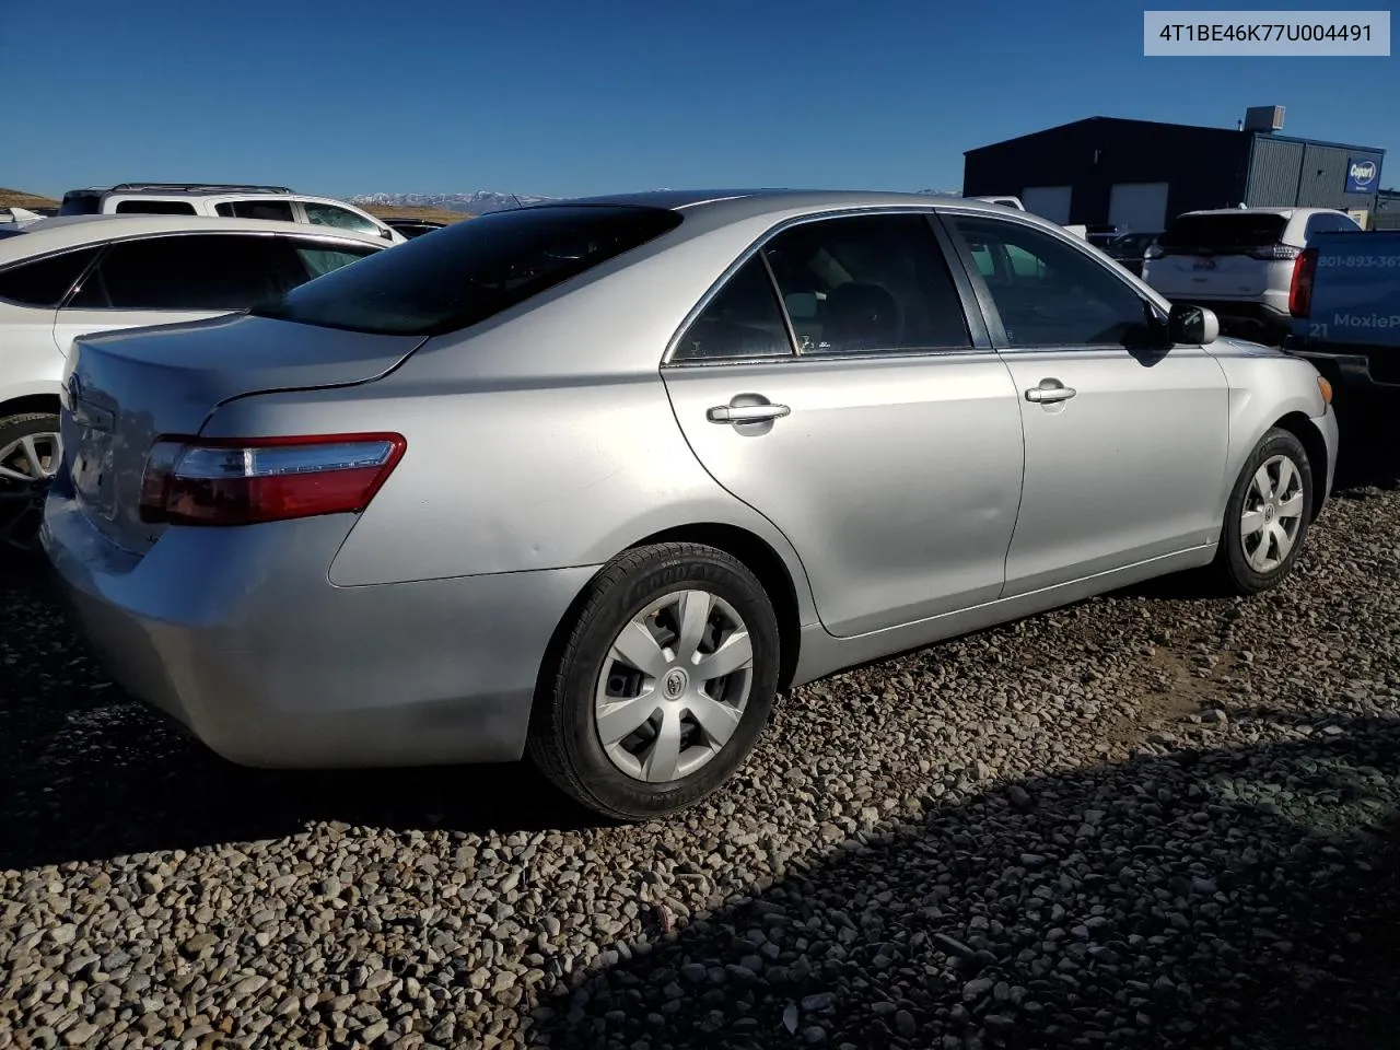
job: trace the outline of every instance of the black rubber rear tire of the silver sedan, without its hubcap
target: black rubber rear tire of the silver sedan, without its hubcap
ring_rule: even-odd
[[[731,606],[753,651],[749,694],[729,739],[704,766],[665,783],[629,776],[608,756],[594,718],[595,690],[619,633],[668,594],[704,589]],[[622,554],[588,585],[559,657],[546,666],[531,720],[529,756],[561,791],[619,820],[645,820],[694,805],[725,783],[753,749],[773,708],[778,627],[763,585],[731,554],[699,543],[658,543]],[[659,682],[657,685],[659,689]]]

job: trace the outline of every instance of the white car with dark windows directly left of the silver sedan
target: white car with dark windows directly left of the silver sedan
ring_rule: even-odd
[[[46,218],[0,234],[0,547],[32,549],[76,336],[246,309],[389,242],[304,223]]]

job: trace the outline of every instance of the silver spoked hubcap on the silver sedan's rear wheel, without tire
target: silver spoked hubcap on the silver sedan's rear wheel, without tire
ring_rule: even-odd
[[[598,676],[594,727],[633,780],[680,780],[724,750],[752,683],[753,645],[734,606],[708,591],[676,591],[617,633]]]

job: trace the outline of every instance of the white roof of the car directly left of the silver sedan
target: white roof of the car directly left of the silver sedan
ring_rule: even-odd
[[[281,223],[272,218],[221,218],[214,216],[59,216],[31,223],[13,237],[0,239],[0,262],[24,259],[42,252],[102,244],[123,237],[150,234],[295,234],[335,238],[388,248],[377,234],[361,234],[311,223]]]

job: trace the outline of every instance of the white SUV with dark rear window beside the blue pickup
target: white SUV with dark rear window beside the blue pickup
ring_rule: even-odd
[[[1288,288],[1308,238],[1359,228],[1323,207],[1187,211],[1147,249],[1142,280],[1173,302],[1212,309],[1222,332],[1277,344],[1292,328]]]

